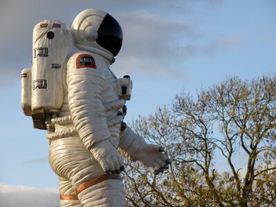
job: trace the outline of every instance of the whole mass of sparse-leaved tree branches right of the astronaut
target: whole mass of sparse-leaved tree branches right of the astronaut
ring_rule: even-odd
[[[276,77],[270,76],[231,77],[197,97],[182,91],[170,106],[139,117],[132,127],[164,146],[172,164],[156,176],[127,163],[128,205],[275,205],[275,114]],[[243,175],[233,161],[239,153],[247,157]],[[218,159],[230,171],[221,172]]]

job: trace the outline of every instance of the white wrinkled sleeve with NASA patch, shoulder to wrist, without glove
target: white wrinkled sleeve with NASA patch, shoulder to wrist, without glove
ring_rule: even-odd
[[[101,101],[103,63],[88,54],[77,53],[68,61],[68,105],[72,121],[88,150],[110,138]]]

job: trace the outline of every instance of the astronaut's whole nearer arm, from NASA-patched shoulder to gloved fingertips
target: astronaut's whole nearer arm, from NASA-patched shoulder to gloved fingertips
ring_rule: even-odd
[[[83,145],[90,150],[106,172],[119,170],[124,166],[123,159],[110,141],[110,132],[106,124],[106,113],[101,101],[104,77],[101,68],[96,66],[77,66],[83,55],[73,56],[68,61],[68,106],[72,121]],[[86,59],[95,59],[86,55]]]

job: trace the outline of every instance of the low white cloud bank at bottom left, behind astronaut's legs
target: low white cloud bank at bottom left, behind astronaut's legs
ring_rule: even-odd
[[[0,183],[0,202],[5,207],[59,206],[59,193],[55,188],[10,186]]]

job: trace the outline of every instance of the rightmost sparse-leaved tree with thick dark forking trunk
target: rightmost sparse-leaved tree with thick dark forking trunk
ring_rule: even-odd
[[[273,157],[268,155],[275,155],[275,86],[275,77],[262,77],[251,82],[235,77],[208,91],[208,103],[224,137],[213,139],[213,143],[231,168],[239,206],[248,206],[248,202],[254,199],[256,177],[275,169],[269,165],[262,170],[256,168],[258,160],[270,164]],[[243,180],[232,159],[238,150],[246,152],[248,157]]]

